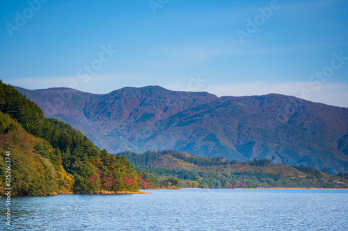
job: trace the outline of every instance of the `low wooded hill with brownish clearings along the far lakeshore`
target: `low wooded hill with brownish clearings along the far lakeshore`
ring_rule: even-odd
[[[245,162],[226,161],[224,157],[200,157],[174,150],[147,151],[143,154],[126,151],[125,156],[137,171],[152,174],[152,182],[177,179],[180,187],[256,188],[256,187],[317,187],[347,188],[347,173],[331,175],[305,166],[272,164],[271,160]],[[145,175],[144,175],[145,176]],[[158,185],[158,180],[150,186]]]

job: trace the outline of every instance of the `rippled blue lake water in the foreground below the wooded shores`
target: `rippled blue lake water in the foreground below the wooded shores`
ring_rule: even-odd
[[[0,230],[348,230],[348,190],[182,189],[13,196]]]

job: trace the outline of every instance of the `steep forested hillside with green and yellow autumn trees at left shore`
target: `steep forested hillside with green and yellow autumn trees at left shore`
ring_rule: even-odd
[[[0,194],[6,151],[13,195],[137,191],[143,180],[125,157],[100,150],[66,123],[45,118],[38,105],[0,80]]]

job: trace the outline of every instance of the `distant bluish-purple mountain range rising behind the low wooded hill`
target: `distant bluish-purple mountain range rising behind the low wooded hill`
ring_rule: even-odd
[[[69,123],[100,148],[167,148],[226,160],[267,158],[330,173],[348,171],[348,108],[293,96],[222,96],[159,86],[109,94],[15,87],[46,117]]]

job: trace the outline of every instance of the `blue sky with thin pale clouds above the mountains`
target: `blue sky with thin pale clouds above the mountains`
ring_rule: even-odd
[[[0,3],[0,79],[105,94],[160,85],[348,107],[348,1]]]

